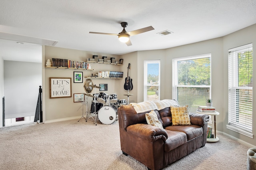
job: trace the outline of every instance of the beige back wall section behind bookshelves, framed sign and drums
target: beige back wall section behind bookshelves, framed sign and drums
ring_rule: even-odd
[[[116,60],[120,59],[117,55],[109,55],[102,53],[94,53],[90,51],[80,51],[74,49],[65,49],[59,47],[50,47],[45,46],[44,50],[44,59],[43,63],[45,64],[47,59],[51,58],[63,58],[63,59],[71,59],[73,61],[86,61],[87,58],[92,58],[92,55],[108,56],[116,57]],[[100,63],[90,63],[92,65],[91,70],[76,70],[76,69],[54,69],[54,68],[43,68],[44,79],[43,79],[43,91],[44,91],[44,121],[56,121],[58,119],[70,119],[72,117],[82,116],[82,113],[86,111],[86,105],[82,102],[74,103],[73,94],[74,93],[86,93],[84,91],[84,83],[73,83],[73,74],[74,71],[82,71],[83,72],[83,82],[86,81],[86,76],[90,76],[91,74],[95,74],[98,71],[120,71],[122,66],[119,65],[111,65],[111,64],[100,64]],[[126,61],[124,60],[124,64]],[[50,99],[50,91],[49,91],[49,78],[50,77],[71,77],[72,78],[72,97],[69,98],[57,98]],[[119,89],[119,84],[116,82],[121,82],[122,79],[92,79],[93,84],[108,84],[108,91],[102,91],[107,94],[118,93],[117,89]],[[99,89],[94,88],[92,93],[99,93]],[[120,94],[117,94],[120,95]],[[88,98],[88,111],[91,107],[92,97]]]

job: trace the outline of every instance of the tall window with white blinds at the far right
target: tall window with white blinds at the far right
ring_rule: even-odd
[[[227,128],[252,137],[252,43],[228,53]]]

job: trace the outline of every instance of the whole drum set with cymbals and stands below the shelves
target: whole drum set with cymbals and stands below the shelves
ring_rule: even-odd
[[[100,88],[96,85],[90,85],[91,87]],[[125,99],[118,100],[116,94],[108,95],[106,93],[100,92],[98,95],[86,94],[89,97],[93,97],[94,100],[91,103],[90,114],[87,112],[87,103],[86,102],[86,122],[88,119],[92,118],[94,120],[94,124],[97,125],[97,119],[106,125],[110,125],[114,123],[114,121],[118,120],[118,107],[121,105],[127,105]],[[88,97],[87,97],[88,101]],[[89,117],[88,117],[89,115]],[[93,118],[94,115],[94,118]]]

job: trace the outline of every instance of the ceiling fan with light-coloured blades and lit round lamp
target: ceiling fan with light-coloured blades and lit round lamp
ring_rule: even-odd
[[[130,46],[130,45],[132,45],[132,43],[130,41],[130,36],[134,36],[134,35],[137,35],[137,34],[141,34],[141,33],[144,33],[144,32],[148,32],[148,31],[154,30],[154,28],[152,26],[149,26],[149,27],[138,29],[138,30],[126,32],[125,28],[128,26],[128,23],[127,22],[121,22],[121,26],[124,29],[119,34],[102,33],[102,32],[89,32],[89,33],[91,33],[91,34],[106,34],[106,35],[118,36],[120,42],[124,42],[124,43],[126,43],[126,45]]]

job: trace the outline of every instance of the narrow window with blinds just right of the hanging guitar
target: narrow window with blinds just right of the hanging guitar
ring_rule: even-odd
[[[144,101],[160,100],[160,60],[144,61]]]

